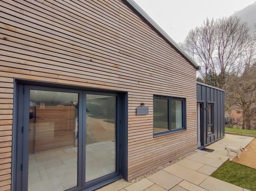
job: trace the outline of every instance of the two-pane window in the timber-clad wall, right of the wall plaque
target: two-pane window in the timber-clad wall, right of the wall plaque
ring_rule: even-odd
[[[185,129],[185,99],[155,96],[153,99],[154,135]]]

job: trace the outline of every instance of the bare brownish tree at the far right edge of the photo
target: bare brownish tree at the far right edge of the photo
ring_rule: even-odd
[[[251,118],[256,115],[256,41],[253,38],[241,55],[243,68],[238,68],[227,78],[226,104],[228,110],[233,105],[242,109],[242,128],[251,129]]]

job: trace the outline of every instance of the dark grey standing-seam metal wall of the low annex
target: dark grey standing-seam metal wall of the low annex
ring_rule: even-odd
[[[197,101],[203,102],[204,107],[204,145],[224,136],[225,106],[224,90],[197,82]],[[207,104],[213,103],[213,134],[207,135]]]

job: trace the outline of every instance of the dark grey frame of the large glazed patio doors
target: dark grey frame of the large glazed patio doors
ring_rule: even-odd
[[[17,80],[18,81],[18,80]],[[68,191],[81,191],[81,190],[93,190],[96,188],[100,188],[101,186],[108,184],[110,182],[116,181],[121,177],[124,177],[127,180],[127,155],[128,155],[128,113],[124,108],[128,109],[127,107],[127,93],[123,93],[122,96],[119,96],[117,93],[105,93],[97,91],[87,91],[81,90],[81,87],[75,88],[74,86],[67,86],[65,88],[61,85],[61,88],[56,87],[57,84],[51,85],[51,83],[37,83],[37,82],[30,82],[31,85],[23,85],[21,80],[21,84],[19,84],[15,80],[16,85],[16,95],[14,96],[14,103],[17,103],[17,106],[14,106],[14,111],[16,111],[17,121],[15,120],[15,130],[14,130],[14,143],[15,145],[12,147],[14,153],[13,160],[12,160],[12,177],[14,178],[12,181],[12,191],[27,191],[27,182],[28,182],[28,122],[29,122],[29,90],[36,89],[36,90],[50,90],[50,91],[61,91],[61,92],[71,92],[71,93],[78,93],[79,95],[79,108],[78,108],[78,187],[71,188]],[[26,81],[26,80],[25,80]],[[34,85],[35,84],[35,85]],[[48,86],[50,84],[50,86]],[[40,86],[41,85],[41,86]],[[91,89],[90,89],[91,90]],[[104,91],[104,90],[102,90]],[[115,95],[117,97],[117,132],[116,132],[116,139],[117,139],[117,152],[116,152],[116,170],[117,172],[113,174],[108,174],[103,177],[97,178],[96,180],[90,181],[85,183],[85,138],[82,135],[85,135],[86,132],[86,94],[100,94],[100,95]],[[122,111],[122,112],[121,112]],[[122,120],[121,120],[122,119]],[[83,128],[84,127],[84,128]],[[122,138],[121,138],[122,137]],[[122,146],[121,147],[121,143]],[[80,144],[80,146],[79,146]],[[21,149],[19,149],[21,148]],[[79,153],[80,152],[80,153]],[[84,159],[84,160],[82,160]],[[26,161],[26,163],[25,163]],[[122,163],[122,164],[121,164]],[[121,168],[122,167],[122,168]],[[121,176],[122,175],[122,176]],[[83,181],[84,180],[84,181]],[[23,184],[22,184],[23,183]],[[25,183],[25,184],[24,184]]]

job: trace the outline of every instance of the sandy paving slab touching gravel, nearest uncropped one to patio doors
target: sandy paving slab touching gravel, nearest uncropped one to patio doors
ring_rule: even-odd
[[[174,187],[175,185],[182,181],[181,178],[176,177],[173,174],[167,173],[164,170],[160,170],[155,174],[150,175],[149,177],[147,177],[147,179],[158,184],[159,186],[163,187],[166,190],[171,189],[172,187]]]

